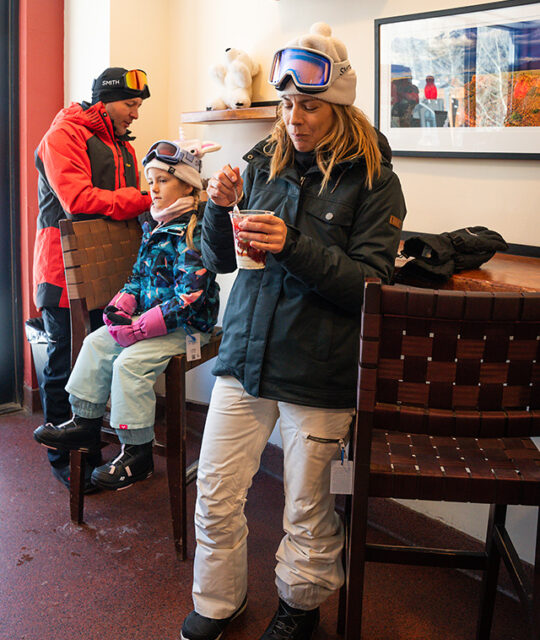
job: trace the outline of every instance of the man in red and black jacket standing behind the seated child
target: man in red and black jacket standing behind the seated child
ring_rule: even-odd
[[[128,130],[149,96],[144,71],[105,69],[93,82],[92,103],[74,102],[62,109],[36,149],[34,302],[48,337],[40,394],[45,422],[54,425],[71,416],[64,389],[71,368],[71,328],[58,223],[104,216],[125,220],[150,209],[150,196],[139,190]],[[94,319],[96,326],[100,316]],[[51,449],[48,456],[54,475],[69,486],[69,453]],[[99,464],[100,453],[89,456],[88,473]]]

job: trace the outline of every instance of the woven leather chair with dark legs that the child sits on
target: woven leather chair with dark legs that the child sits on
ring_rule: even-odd
[[[126,283],[141,241],[137,220],[123,222],[97,219],[60,222],[62,251],[71,312],[72,365],[82,342],[90,333],[89,313],[102,309]],[[156,424],[154,452],[166,456],[167,478],[175,549],[186,558],[186,486],[196,477],[197,462],[186,468],[186,372],[215,357],[221,338],[219,328],[201,348],[201,359],[188,362],[185,355],[171,359],[165,371],[165,424]],[[105,426],[102,440],[118,442],[114,430]],[[77,524],[84,514],[85,455],[70,455],[70,514]]]

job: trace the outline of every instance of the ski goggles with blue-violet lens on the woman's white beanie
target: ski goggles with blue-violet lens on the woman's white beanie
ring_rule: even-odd
[[[282,91],[292,80],[302,92],[318,93],[328,89],[337,77],[350,68],[348,60],[334,62],[320,51],[287,47],[274,54],[269,82]]]

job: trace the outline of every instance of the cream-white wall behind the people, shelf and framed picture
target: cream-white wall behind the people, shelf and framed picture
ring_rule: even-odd
[[[99,0],[106,5],[106,0]],[[275,99],[267,85],[273,51],[313,22],[328,22],[342,39],[358,75],[356,104],[373,119],[374,28],[376,18],[468,6],[469,0],[113,0],[110,3],[110,64],[142,67],[149,74],[152,96],[133,130],[139,158],[158,138],[176,138],[183,111],[204,109],[216,87],[209,77],[211,65],[221,61],[226,47],[245,49],[261,63],[254,84],[255,100]],[[82,11],[81,5],[86,8]],[[86,69],[96,56],[95,0],[66,0],[70,7],[70,37],[66,59],[74,72]],[[86,15],[85,15],[86,13]],[[83,23],[81,23],[83,20]],[[104,18],[105,21],[105,18]],[[101,34],[102,35],[102,34]],[[90,43],[88,45],[88,43]],[[85,47],[86,48],[85,50]],[[99,70],[107,66],[100,57]],[[95,66],[95,65],[94,65]],[[99,73],[99,70],[97,71]],[[90,79],[95,77],[90,75]],[[88,75],[88,74],[87,74]],[[67,76],[66,76],[67,77]],[[70,76],[71,78],[72,76]],[[71,81],[73,84],[73,81]],[[265,124],[185,125],[189,137],[220,142],[223,149],[205,158],[210,175],[225,162],[242,166],[242,155],[269,130]],[[540,244],[538,224],[540,169],[538,162],[442,158],[395,158],[408,205],[405,229],[439,233],[466,225],[485,225],[508,242]],[[220,277],[224,306],[232,277]],[[192,375],[188,395],[207,400],[212,386],[209,366]],[[485,509],[477,505],[410,504],[475,537],[485,530]],[[532,562],[535,509],[511,511],[510,530],[517,534],[520,555]]]

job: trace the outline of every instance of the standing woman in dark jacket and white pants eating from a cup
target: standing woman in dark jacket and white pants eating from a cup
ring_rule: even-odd
[[[244,503],[278,418],[285,536],[279,605],[261,640],[310,639],[319,604],[343,582],[330,463],[354,415],[364,279],[390,279],[405,204],[384,138],[352,106],[356,75],[345,46],[327,25],[311,31],[274,56],[270,80],[282,103],[272,134],[245,156],[242,178],[227,166],[208,187],[202,253],[213,271],[236,268],[228,212],[237,199],[275,215],[241,223],[241,239],[265,250],[267,262],[239,270],[223,321],[184,640],[217,640],[245,608]]]

